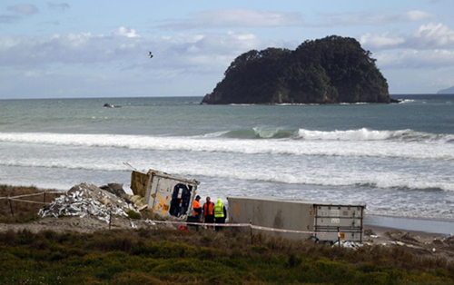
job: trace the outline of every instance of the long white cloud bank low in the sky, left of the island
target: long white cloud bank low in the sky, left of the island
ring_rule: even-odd
[[[79,33],[47,36],[0,34],[0,69],[39,70],[53,64],[117,70],[161,71],[161,74],[222,74],[232,60],[251,49],[262,49],[255,34],[174,34],[139,37],[132,28],[120,27],[110,35]],[[281,43],[284,45],[285,43]],[[154,54],[148,57],[148,51]]]

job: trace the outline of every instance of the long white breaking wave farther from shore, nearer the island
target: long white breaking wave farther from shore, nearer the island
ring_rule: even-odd
[[[276,131],[276,133],[252,132],[254,132],[253,135],[274,137],[276,135],[290,135],[286,134],[287,131]],[[0,142],[90,148],[113,147],[150,151],[233,152],[244,154],[454,160],[454,143],[446,143],[446,137],[433,142],[431,139],[421,140],[419,138],[418,140],[410,140],[409,142],[402,143],[400,140],[406,131],[390,133],[388,131],[376,132],[378,133],[367,130],[342,132],[301,132],[300,130],[298,133],[300,135],[302,134],[303,139],[283,140],[238,139],[216,136],[156,137],[118,134],[0,133]],[[224,136],[232,135],[232,133],[217,133],[215,135]],[[390,138],[395,138],[396,136],[400,136],[400,140],[390,140]],[[436,135],[431,134],[429,136]],[[373,139],[370,139],[370,137]]]

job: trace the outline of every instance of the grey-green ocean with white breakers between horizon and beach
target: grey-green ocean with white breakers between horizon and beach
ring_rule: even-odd
[[[120,182],[130,191],[129,162],[197,179],[212,200],[280,195],[454,221],[454,95],[391,97],[403,101],[1,100],[0,183],[69,190]]]

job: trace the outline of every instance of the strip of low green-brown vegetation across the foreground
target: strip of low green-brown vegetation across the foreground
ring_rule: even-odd
[[[237,231],[6,231],[0,283],[454,284],[452,263],[404,248],[248,241]]]

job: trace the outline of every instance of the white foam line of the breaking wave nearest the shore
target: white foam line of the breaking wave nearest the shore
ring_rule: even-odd
[[[16,166],[16,167],[42,167],[52,169],[69,169],[69,170],[83,170],[83,171],[97,171],[97,172],[130,172],[129,168],[125,168],[123,164],[113,163],[85,163],[74,162],[71,160],[63,160],[59,162],[49,162],[47,160],[38,161],[2,161],[2,166]],[[140,169],[140,167],[139,167]],[[318,175],[301,175],[299,172],[295,173],[280,173],[280,172],[255,172],[250,169],[223,169],[213,167],[212,165],[204,164],[200,167],[182,166],[177,164],[167,164],[165,167],[160,168],[165,172],[171,172],[175,175],[182,176],[203,176],[211,178],[224,178],[232,180],[243,181],[258,181],[258,182],[280,182],[285,184],[304,184],[304,185],[317,185],[317,186],[346,186],[346,187],[367,187],[377,189],[396,189],[404,191],[426,191],[426,192],[454,192],[454,184],[452,182],[427,182],[415,181],[411,177],[390,177],[388,175],[376,175],[371,173],[368,175],[356,176],[343,176],[343,177],[321,177]],[[143,169],[143,171],[145,171]]]

